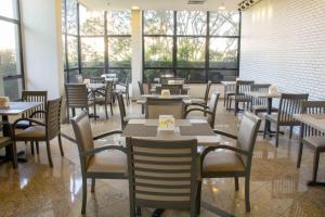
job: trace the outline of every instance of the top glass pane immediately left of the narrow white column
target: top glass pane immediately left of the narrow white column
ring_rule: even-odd
[[[131,12],[110,11],[107,12],[108,35],[131,35]]]

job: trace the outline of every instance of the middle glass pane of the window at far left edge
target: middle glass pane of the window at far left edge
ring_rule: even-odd
[[[21,74],[18,26],[0,21],[0,76]]]

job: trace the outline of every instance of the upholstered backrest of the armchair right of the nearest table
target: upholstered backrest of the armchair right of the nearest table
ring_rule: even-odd
[[[239,154],[247,169],[250,169],[251,166],[252,152],[253,152],[256,137],[260,128],[260,125],[261,125],[261,118],[259,118],[258,116],[249,112],[245,112],[243,114],[243,118],[238,130],[238,137],[237,137],[237,148],[246,152],[249,152],[250,154],[249,156]]]

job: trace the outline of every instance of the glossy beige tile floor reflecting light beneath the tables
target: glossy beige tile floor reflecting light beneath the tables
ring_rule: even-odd
[[[114,107],[114,116],[93,122],[94,135],[120,128],[119,111]],[[140,106],[132,104],[129,112],[139,113]],[[233,113],[218,106],[216,128],[236,132],[238,119]],[[73,137],[69,125],[62,131]],[[100,143],[116,141],[118,138]],[[40,144],[40,155],[31,156],[26,150],[28,163],[20,164],[14,170],[11,164],[0,165],[0,216],[1,217],[74,217],[80,216],[81,178],[76,144],[63,139],[65,157],[61,157],[57,141],[52,144],[54,168],[48,164],[46,149]],[[255,149],[251,174],[251,212],[245,213],[244,180],[240,190],[234,191],[233,179],[204,180],[203,201],[222,208],[235,216],[325,216],[325,188],[310,188],[306,182],[311,178],[313,154],[304,149],[301,168],[296,168],[297,137],[289,140],[281,136],[280,148],[274,140],[263,140],[259,136]],[[325,181],[325,157],[321,156],[318,179]],[[151,216],[152,209],[144,209],[143,216]],[[123,217],[129,215],[127,181],[100,180],[96,192],[88,194],[87,216]],[[188,216],[186,212],[166,210],[162,216]],[[216,216],[202,208],[200,216]]]

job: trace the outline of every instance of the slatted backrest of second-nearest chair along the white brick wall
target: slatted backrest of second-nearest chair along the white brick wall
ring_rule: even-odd
[[[299,124],[292,115],[301,111],[301,102],[308,100],[309,94],[282,93],[278,106],[277,122],[285,124]]]

